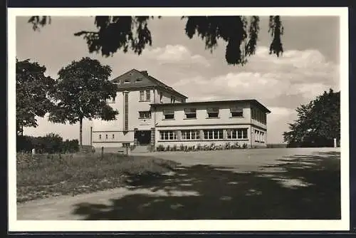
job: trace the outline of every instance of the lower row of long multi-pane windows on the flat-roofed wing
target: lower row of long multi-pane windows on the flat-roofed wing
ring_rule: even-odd
[[[202,133],[201,133],[202,132]],[[224,139],[223,129],[209,130],[160,130],[161,140],[177,140],[178,133],[181,133],[182,140],[221,140]],[[247,128],[227,129],[228,139],[247,139]]]

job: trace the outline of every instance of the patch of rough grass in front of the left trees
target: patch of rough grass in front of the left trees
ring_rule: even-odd
[[[16,156],[17,202],[78,195],[125,185],[127,176],[162,174],[177,162],[153,157],[105,154]]]

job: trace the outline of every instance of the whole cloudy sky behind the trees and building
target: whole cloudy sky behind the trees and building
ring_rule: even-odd
[[[132,68],[148,73],[193,100],[256,99],[271,113],[267,116],[268,143],[283,143],[283,132],[296,119],[295,108],[324,90],[340,90],[340,22],[337,16],[283,16],[283,56],[268,54],[271,36],[268,17],[261,17],[258,47],[245,66],[229,66],[224,41],[211,53],[204,41],[189,39],[186,20],[164,16],[149,21],[152,46],[140,56],[117,51],[113,56],[89,53],[81,30],[95,30],[94,18],[52,17],[51,25],[33,31],[28,16],[16,18],[16,57],[46,66],[46,75],[58,78],[60,68],[89,56],[112,68],[115,78]],[[79,125],[49,123],[38,118],[37,128],[25,135],[57,133],[78,139]],[[90,143],[90,125],[83,123],[83,144]]]

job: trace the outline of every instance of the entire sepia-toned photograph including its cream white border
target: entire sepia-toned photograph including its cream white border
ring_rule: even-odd
[[[350,229],[347,17],[9,9],[9,229]]]

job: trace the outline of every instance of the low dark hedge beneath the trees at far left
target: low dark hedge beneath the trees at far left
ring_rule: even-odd
[[[18,135],[16,138],[17,152],[31,152],[35,149],[37,153],[78,152],[78,140],[63,140],[60,135],[50,133],[46,136]]]

